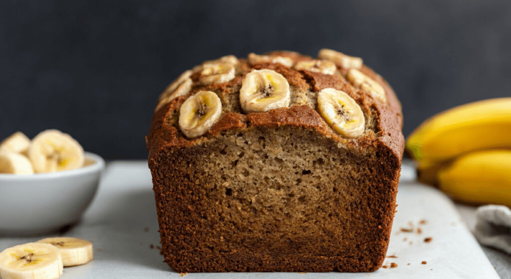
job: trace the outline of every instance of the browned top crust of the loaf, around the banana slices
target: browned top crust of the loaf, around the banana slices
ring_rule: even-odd
[[[309,56],[287,51],[276,51],[267,55],[290,57],[294,62],[312,59]],[[239,104],[239,91],[243,77],[252,69],[262,68],[272,69],[282,74],[293,90],[303,92],[309,96],[317,95],[317,92],[323,88],[335,88],[346,92],[360,105],[364,112],[366,118],[364,134],[358,138],[346,138],[337,134],[323,120],[316,103],[304,103],[300,100],[292,101],[289,108],[245,114]],[[404,149],[404,137],[401,131],[403,125],[401,104],[392,88],[380,75],[365,65],[359,70],[383,86],[387,97],[386,103],[376,100],[354,87],[344,78],[348,69],[340,66],[337,66],[336,74],[326,75],[307,70],[296,71],[280,63],[249,64],[247,60],[239,59],[234,79],[209,85],[201,85],[198,81],[200,73],[194,73],[191,76],[193,86],[188,95],[177,97],[155,111],[149,135],[146,137],[149,159],[154,158],[161,150],[169,150],[169,147],[183,148],[212,141],[216,137],[222,136],[221,132],[226,130],[290,125],[315,130],[350,148],[363,150],[369,146],[384,146],[390,149],[400,161]],[[220,120],[205,135],[188,139],[181,133],[177,124],[179,108],[188,97],[200,90],[211,90],[219,96],[222,101],[222,115]]]

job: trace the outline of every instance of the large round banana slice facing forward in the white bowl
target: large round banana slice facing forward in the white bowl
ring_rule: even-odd
[[[34,137],[29,158],[38,173],[73,170],[84,162],[82,146],[58,130],[45,130]]]

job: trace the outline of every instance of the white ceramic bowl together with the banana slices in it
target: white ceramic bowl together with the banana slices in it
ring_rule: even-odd
[[[78,222],[105,161],[70,135],[16,132],[0,143],[0,235],[49,233]]]

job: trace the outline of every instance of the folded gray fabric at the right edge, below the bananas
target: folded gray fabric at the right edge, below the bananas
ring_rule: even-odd
[[[484,205],[477,208],[476,218],[477,240],[511,254],[511,210],[504,205]]]

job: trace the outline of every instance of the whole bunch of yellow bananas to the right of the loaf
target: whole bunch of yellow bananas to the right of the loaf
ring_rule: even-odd
[[[473,204],[511,206],[511,98],[434,115],[407,139],[419,181]]]

